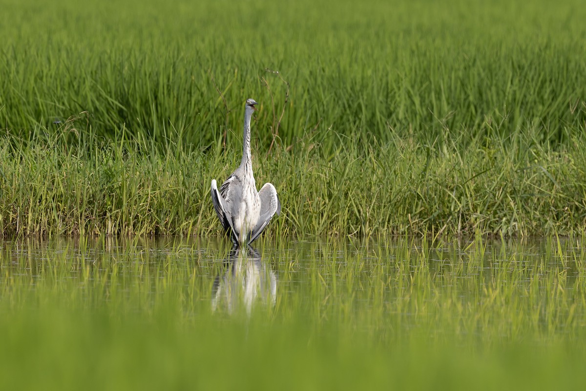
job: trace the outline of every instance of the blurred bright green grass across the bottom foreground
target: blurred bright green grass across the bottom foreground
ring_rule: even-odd
[[[0,385],[12,390],[581,390],[586,380],[584,344],[567,341],[487,348],[419,335],[374,345],[333,325],[311,334],[303,321],[172,327],[164,314],[3,312]]]

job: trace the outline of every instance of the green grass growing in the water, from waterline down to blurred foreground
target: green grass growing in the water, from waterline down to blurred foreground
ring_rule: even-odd
[[[266,269],[258,278],[274,273],[275,304],[254,301],[250,316],[239,299],[231,314],[212,312],[214,277],[223,276],[227,254],[219,243],[2,242],[0,386],[584,384],[582,236],[267,244],[259,246]],[[255,278],[245,276],[236,281]]]

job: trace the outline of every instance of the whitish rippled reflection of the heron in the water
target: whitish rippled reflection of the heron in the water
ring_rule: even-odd
[[[230,314],[242,301],[248,315],[257,298],[265,304],[275,304],[277,277],[270,266],[263,262],[257,250],[250,246],[235,246],[224,264],[227,266],[226,273],[224,276],[217,276],[213,285],[213,311],[222,305],[222,301],[226,301]]]

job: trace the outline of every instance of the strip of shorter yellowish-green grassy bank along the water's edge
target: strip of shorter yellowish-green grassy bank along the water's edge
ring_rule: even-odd
[[[399,135],[385,145],[338,137],[349,147],[331,155],[309,137],[301,156],[254,154],[258,187],[274,183],[283,206],[265,236],[526,236],[586,225],[583,137],[559,152],[530,138],[437,151]],[[238,154],[161,149],[124,135],[84,140],[26,146],[0,138],[4,235],[220,233],[210,181],[226,178]]]

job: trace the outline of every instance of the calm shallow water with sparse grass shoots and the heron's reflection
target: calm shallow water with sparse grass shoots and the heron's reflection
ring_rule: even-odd
[[[527,311],[528,317],[540,312],[543,324],[551,319],[543,308],[533,307],[559,300],[561,292],[570,297],[564,305],[574,305],[572,319],[556,326],[563,330],[584,317],[573,296],[583,294],[583,245],[555,238],[336,240],[264,243],[233,251],[222,240],[179,237],[28,238],[0,242],[0,286],[5,293],[35,290],[39,284],[64,291],[83,287],[80,295],[90,305],[100,307],[100,301],[115,296],[137,308],[154,305],[159,295],[174,289],[181,292],[186,312],[209,307],[250,315],[254,307],[263,307],[356,316],[400,313],[402,327],[417,324],[426,304],[445,307],[457,300],[481,311],[481,302],[495,291],[502,295],[502,305],[526,297],[527,302],[510,310]],[[139,300],[133,301],[135,296]]]

